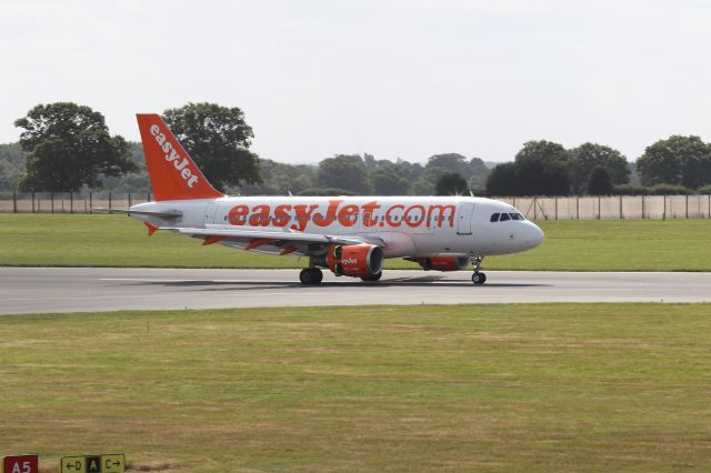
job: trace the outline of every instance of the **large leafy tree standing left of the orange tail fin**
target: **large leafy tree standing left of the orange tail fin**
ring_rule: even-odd
[[[29,152],[21,190],[78,191],[82,185],[98,185],[101,175],[137,169],[126,140],[111,137],[103,115],[89,107],[39,104],[14,125],[24,129],[20,144]]]

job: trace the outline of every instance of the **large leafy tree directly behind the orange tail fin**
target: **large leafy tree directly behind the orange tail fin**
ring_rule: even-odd
[[[166,110],[163,120],[216,188],[260,181],[259,158],[249,150],[254,133],[238,107],[188,103]]]

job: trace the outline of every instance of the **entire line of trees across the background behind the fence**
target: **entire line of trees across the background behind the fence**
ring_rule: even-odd
[[[630,184],[631,167],[622,153],[597,143],[565,149],[530,141],[512,162],[493,169],[459,153],[434,154],[425,164],[338,154],[318,164],[294,165],[250,150],[253,131],[239,108],[188,103],[166,110],[162,118],[213,185],[231,194],[711,192],[711,145],[693,135],[673,135],[648,147],[635,163],[640,185]],[[111,135],[103,115],[89,107],[39,104],[14,124],[22,130],[19,142],[0,144],[0,191],[150,191],[141,144]]]

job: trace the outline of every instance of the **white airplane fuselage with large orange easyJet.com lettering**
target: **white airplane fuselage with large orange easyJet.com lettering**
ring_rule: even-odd
[[[472,256],[515,253],[543,238],[532,222],[500,201],[470,197],[226,197],[137,204],[134,211],[178,211],[179,221],[133,215],[162,227],[278,230],[378,238],[385,258]],[[492,221],[507,214],[505,221]],[[514,219],[521,220],[514,220]],[[234,248],[243,244],[220,242]],[[306,248],[299,249],[304,253]],[[259,251],[279,252],[263,245]]]

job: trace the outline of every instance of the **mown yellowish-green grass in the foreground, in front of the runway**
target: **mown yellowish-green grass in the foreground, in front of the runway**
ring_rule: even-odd
[[[3,316],[1,454],[171,471],[709,471],[711,305]]]

